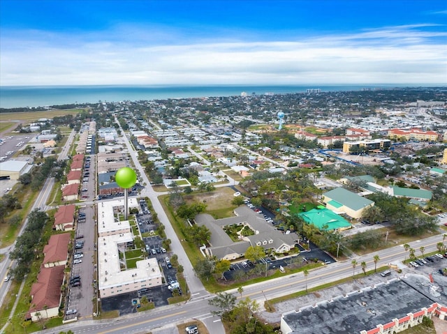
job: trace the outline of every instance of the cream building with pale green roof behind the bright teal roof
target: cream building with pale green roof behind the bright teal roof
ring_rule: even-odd
[[[366,208],[374,206],[374,202],[344,188],[335,188],[323,194],[326,207],[336,213],[346,213],[352,218],[361,218]]]

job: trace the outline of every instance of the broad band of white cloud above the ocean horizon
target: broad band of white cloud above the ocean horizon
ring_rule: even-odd
[[[156,45],[44,31],[1,40],[0,85],[443,83],[444,31],[430,24],[284,41]],[[131,29],[126,27],[126,33]],[[138,35],[166,32],[139,31]],[[122,36],[122,33],[119,34]],[[148,42],[149,43],[149,42]]]

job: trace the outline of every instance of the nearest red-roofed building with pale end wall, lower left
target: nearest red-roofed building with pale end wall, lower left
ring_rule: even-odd
[[[59,315],[64,269],[64,266],[41,267],[41,271],[37,275],[37,282],[31,287],[31,307],[25,319],[39,321]]]

